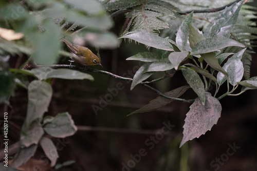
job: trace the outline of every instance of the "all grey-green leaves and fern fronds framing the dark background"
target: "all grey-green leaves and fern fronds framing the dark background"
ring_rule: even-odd
[[[164,71],[166,76],[152,82],[169,78],[173,71],[181,71],[189,84],[166,93],[152,88],[160,97],[130,115],[155,110],[174,100],[192,102],[183,126],[180,146],[205,134],[217,123],[222,111],[220,99],[257,88],[256,77],[250,78],[250,53],[256,39],[253,34],[257,33],[257,29],[252,27],[256,26],[252,19],[256,12],[252,11],[255,8],[243,5],[243,1],[214,14],[203,12],[204,14],[199,15],[193,12],[184,15],[181,10],[202,8],[194,5],[193,1],[87,0],[85,3],[80,0],[48,0],[28,1],[26,4],[23,1],[0,3],[0,27],[13,31],[10,39],[0,37],[0,103],[8,103],[16,86],[28,91],[20,150],[11,165],[14,168],[26,163],[35,154],[39,144],[51,161],[51,166],[56,165],[58,154],[49,156],[49,150],[57,152],[56,147],[45,134],[64,138],[77,131],[68,112],[57,113],[55,117],[44,116],[53,94],[51,80],[93,81],[94,78],[72,69],[9,68],[9,55],[26,54],[29,56],[28,61],[34,61],[35,65],[57,64],[60,54],[70,55],[61,51],[62,36],[76,37],[77,41],[83,40],[93,47],[115,48],[118,46],[117,36],[108,30],[113,26],[112,17],[122,13],[125,13],[126,22],[119,39],[133,40],[150,50],[127,58],[142,62],[132,80],[131,90],[139,84],[146,85],[147,82],[143,81],[160,71]],[[227,1],[219,2],[225,3]],[[105,11],[113,13],[108,15]],[[163,29],[166,30],[160,33]],[[108,74],[114,76],[112,73]],[[217,97],[219,88],[224,83],[227,83],[227,92]],[[240,86],[241,91],[233,94]],[[216,89],[211,94],[213,87]],[[189,88],[193,89],[197,98],[180,99]],[[72,161],[58,167],[70,163]]]

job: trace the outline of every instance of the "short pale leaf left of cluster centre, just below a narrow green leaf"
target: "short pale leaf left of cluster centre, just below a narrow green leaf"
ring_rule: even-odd
[[[156,72],[156,71],[167,71],[174,68],[169,59],[161,59],[159,61],[153,62],[149,65],[144,72]]]

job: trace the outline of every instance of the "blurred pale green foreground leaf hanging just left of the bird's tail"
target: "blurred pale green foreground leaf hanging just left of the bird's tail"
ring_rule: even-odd
[[[60,28],[50,20],[43,23],[45,31],[43,33],[31,33],[29,40],[35,45],[32,54],[35,63],[50,65],[57,61],[61,50]]]

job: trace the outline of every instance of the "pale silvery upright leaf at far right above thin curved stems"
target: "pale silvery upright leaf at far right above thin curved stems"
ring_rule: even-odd
[[[245,50],[246,48],[235,53],[223,66],[223,69],[228,73],[229,83],[233,86],[235,86],[237,82],[240,82],[243,78],[244,67],[240,59],[242,59]],[[217,74],[217,81],[219,85],[222,85],[226,80],[227,78],[225,78],[223,73],[219,72]]]

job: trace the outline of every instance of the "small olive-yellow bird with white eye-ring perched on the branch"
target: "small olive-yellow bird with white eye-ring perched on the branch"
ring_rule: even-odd
[[[87,65],[100,65],[101,67],[101,60],[100,58],[95,55],[90,49],[80,46],[80,45],[74,45],[70,43],[68,40],[61,37],[61,40],[67,45],[67,47],[70,49],[72,56],[70,65],[72,62],[77,62],[81,65],[87,66]],[[73,60],[74,59],[74,60]]]

